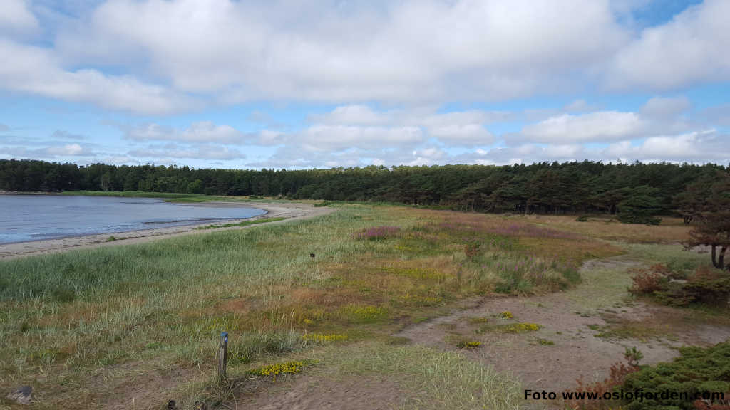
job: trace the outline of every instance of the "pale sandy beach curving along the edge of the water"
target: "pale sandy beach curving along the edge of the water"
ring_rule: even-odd
[[[258,220],[261,218],[272,218],[272,217],[283,217],[285,220],[275,221],[271,223],[286,223],[290,220],[306,219],[311,217],[317,217],[319,215],[328,214],[331,212],[329,207],[315,207],[312,204],[298,204],[298,203],[285,203],[285,204],[274,204],[274,203],[255,203],[255,204],[242,204],[240,202],[204,202],[201,204],[185,204],[185,206],[225,206],[225,207],[246,207],[264,209],[266,214],[261,214],[255,217],[239,219],[239,220],[224,220],[216,223],[200,223],[196,225],[185,225],[185,226],[174,226],[169,228],[157,228],[157,229],[145,229],[142,231],[128,231],[114,233],[116,241],[107,241],[111,236],[109,233],[100,235],[87,235],[87,236],[72,236],[61,239],[48,239],[45,241],[28,241],[28,242],[16,242],[12,244],[0,244],[0,259],[11,259],[20,258],[23,256],[30,255],[41,255],[54,252],[64,252],[67,250],[84,249],[91,247],[107,247],[107,246],[118,246],[123,244],[137,244],[141,242],[154,241],[156,239],[169,238],[172,236],[181,235],[196,235],[202,233],[210,233],[210,230],[199,230],[197,229],[200,225],[223,225],[228,223],[238,223],[245,220]],[[245,229],[251,226],[258,225],[247,225],[231,228],[218,228],[215,231],[223,231],[230,229]]]

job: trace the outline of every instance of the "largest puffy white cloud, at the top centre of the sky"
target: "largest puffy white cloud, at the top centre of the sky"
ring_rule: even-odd
[[[333,6],[107,1],[65,26],[56,44],[66,63],[127,66],[228,103],[349,103],[496,100],[557,90],[575,83],[576,66],[607,63],[628,39],[607,0]]]

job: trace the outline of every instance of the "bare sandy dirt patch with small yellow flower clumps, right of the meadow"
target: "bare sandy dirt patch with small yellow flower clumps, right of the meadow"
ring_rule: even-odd
[[[474,309],[412,326],[397,336],[452,350],[457,349],[454,339],[480,341],[479,348],[464,350],[464,355],[517,376],[524,389],[558,394],[575,389],[579,377],[586,382],[607,377],[611,365],[623,360],[626,347],[637,347],[644,354],[641,363],[653,364],[676,357],[683,344],[709,345],[730,338],[728,326],[695,322],[679,309],[626,300],[626,271],[637,264],[625,256],[591,261],[583,266],[583,283],[567,292],[489,298]],[[514,318],[504,319],[502,312]],[[517,322],[540,328],[526,333],[495,330]],[[617,336],[600,335],[611,330]]]

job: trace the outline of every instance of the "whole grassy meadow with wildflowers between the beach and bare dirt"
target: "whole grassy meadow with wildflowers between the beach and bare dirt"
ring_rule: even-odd
[[[0,261],[0,390],[33,386],[37,409],[156,409],[172,399],[215,408],[252,385],[273,389],[278,369],[394,374],[404,408],[515,409],[521,390],[510,374],[393,333],[489,295],[570,289],[586,260],[650,255],[646,242],[687,230],[335,208],[312,220]],[[231,335],[223,385],[222,331]],[[445,384],[458,388],[429,388]],[[408,401],[409,392],[423,395]]]

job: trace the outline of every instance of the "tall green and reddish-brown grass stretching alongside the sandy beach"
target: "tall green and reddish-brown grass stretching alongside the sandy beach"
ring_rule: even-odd
[[[529,292],[550,284],[541,269],[564,281],[561,263],[584,258],[571,255],[608,252],[545,228],[500,231],[504,224],[483,214],[343,205],[283,225],[0,261],[0,390],[34,384],[48,393],[46,406],[90,408],[118,386],[98,386],[91,398],[67,386],[160,368],[212,374],[223,330],[231,364],[245,365],[306,349],[303,333],[357,341],[510,280],[508,291]],[[397,228],[378,240],[358,235],[378,226]],[[474,255],[465,255],[465,241],[480,241]],[[569,247],[543,252],[552,241]],[[519,280],[500,271],[520,260],[532,262],[520,264]]]

